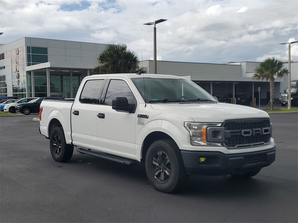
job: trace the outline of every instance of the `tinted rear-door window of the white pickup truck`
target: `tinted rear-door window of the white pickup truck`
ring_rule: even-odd
[[[81,96],[81,103],[99,104],[99,94],[102,92],[105,80],[90,80],[86,81]]]

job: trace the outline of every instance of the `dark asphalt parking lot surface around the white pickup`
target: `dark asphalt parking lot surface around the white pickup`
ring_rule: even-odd
[[[297,113],[271,114],[276,161],[258,175],[190,176],[155,191],[145,166],[74,151],[55,162],[34,116],[0,117],[0,222],[297,222]]]

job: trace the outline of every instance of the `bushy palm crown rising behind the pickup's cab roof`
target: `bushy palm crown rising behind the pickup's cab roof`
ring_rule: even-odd
[[[124,43],[109,43],[97,56],[97,63],[92,74],[134,73],[138,70],[139,59]]]

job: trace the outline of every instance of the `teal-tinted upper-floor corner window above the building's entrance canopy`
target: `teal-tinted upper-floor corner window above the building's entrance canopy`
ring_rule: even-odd
[[[48,48],[27,46],[27,66],[48,62]]]

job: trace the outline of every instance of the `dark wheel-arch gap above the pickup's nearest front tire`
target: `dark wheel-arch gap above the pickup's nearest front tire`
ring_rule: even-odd
[[[142,144],[142,150],[141,150],[141,154],[142,154],[141,162],[142,163],[145,163],[146,154],[147,154],[147,151],[148,151],[150,145],[153,142],[160,140],[160,139],[168,139],[168,140],[172,141],[173,144],[178,147],[177,143],[170,135],[168,135],[162,131],[151,132],[150,134],[148,134],[146,136],[146,138],[144,139],[143,144]]]

